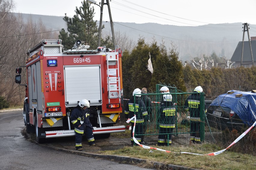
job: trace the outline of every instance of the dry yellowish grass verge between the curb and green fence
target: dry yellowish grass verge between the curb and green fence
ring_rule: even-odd
[[[119,134],[111,134],[119,135],[118,137],[129,137],[130,131],[126,131]],[[167,153],[164,151],[157,151],[154,149],[145,149],[140,146],[125,146],[124,148],[111,150],[111,151],[99,151],[99,154],[110,154],[110,155],[119,155],[133,158],[140,158],[147,160],[148,166],[151,165],[151,161],[159,162],[163,164],[172,164],[178,166],[184,166],[187,168],[194,169],[206,169],[206,170],[216,170],[216,169],[255,169],[255,155],[251,154],[241,154],[238,152],[233,152],[230,150],[224,151],[223,153],[216,156],[207,156],[207,155],[194,155],[194,154],[181,154],[180,152],[190,152],[197,154],[209,154],[215,151],[220,151],[223,148],[216,144],[192,144],[189,146],[152,146],[155,148],[160,148],[168,151],[172,151],[171,153]],[[150,152],[153,151],[153,152]],[[176,153],[174,153],[176,152]],[[144,165],[144,167],[147,167]]]

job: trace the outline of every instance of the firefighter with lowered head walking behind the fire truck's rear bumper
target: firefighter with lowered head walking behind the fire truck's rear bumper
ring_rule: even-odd
[[[95,146],[93,137],[93,126],[89,120],[89,107],[90,102],[86,99],[82,99],[71,113],[70,121],[75,126],[75,148],[78,151],[83,150],[83,134],[85,134],[85,137],[87,138],[89,145]]]

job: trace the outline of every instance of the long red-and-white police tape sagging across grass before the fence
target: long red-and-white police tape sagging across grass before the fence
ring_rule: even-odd
[[[231,146],[233,146],[235,143],[237,143],[240,139],[242,139],[255,125],[256,125],[256,121],[253,123],[253,125],[248,128],[244,133],[242,133],[238,138],[236,138],[236,140],[231,143],[226,149],[223,149],[221,151],[217,151],[217,152],[212,152],[209,154],[195,154],[195,153],[190,153],[190,152],[173,152],[173,151],[168,151],[168,150],[164,150],[164,149],[159,149],[159,148],[154,148],[154,147],[150,147],[150,146],[145,146],[145,145],[141,145],[136,138],[134,137],[134,131],[135,131],[135,124],[136,124],[136,115],[134,115],[134,117],[128,119],[126,122],[129,123],[131,120],[134,119],[134,126],[133,126],[133,141],[138,144],[139,146],[141,146],[142,148],[145,149],[154,149],[154,150],[159,150],[159,151],[164,151],[164,152],[172,152],[172,153],[181,153],[181,154],[194,154],[194,155],[209,155],[209,156],[215,156],[218,154],[221,154],[222,152],[226,151],[228,148],[230,148]]]

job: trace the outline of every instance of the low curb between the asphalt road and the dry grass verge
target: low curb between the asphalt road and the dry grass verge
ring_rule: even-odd
[[[58,147],[54,147],[54,146],[48,146],[48,145],[44,145],[44,144],[38,144],[38,145],[45,146],[48,148],[53,148],[53,149],[59,150],[59,151],[64,151],[66,153],[78,154],[78,155],[89,156],[89,157],[94,157],[94,158],[103,158],[103,159],[108,159],[108,160],[116,160],[118,162],[126,162],[126,163],[134,163],[134,164],[147,162],[147,160],[143,160],[143,159],[139,159],[139,158],[131,158],[131,157],[117,156],[117,155],[93,154],[93,153],[87,153],[84,151],[76,151],[76,150],[69,150],[69,149],[65,149],[65,148],[58,148]],[[197,170],[197,169],[186,168],[183,166],[177,166],[177,165],[172,165],[172,164],[163,164],[163,163],[153,162],[153,161],[150,161],[150,163],[152,164],[152,166],[154,168],[157,168],[157,169],[161,168],[161,169],[178,169],[178,170]]]

